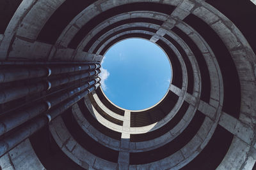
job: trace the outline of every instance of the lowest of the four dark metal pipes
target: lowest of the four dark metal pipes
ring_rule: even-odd
[[[99,85],[100,85],[99,83],[97,83],[96,85],[93,85],[93,87],[91,87],[90,90],[97,89]],[[90,90],[86,90],[85,92],[78,95],[77,97],[74,97],[68,102],[61,104],[60,107],[48,113],[47,117],[37,117],[35,118],[35,120],[24,125],[24,127],[21,127],[19,130],[13,132],[9,136],[6,136],[4,139],[0,141],[0,157],[4,155],[4,153],[8,152],[9,150],[17,146],[20,142],[24,141],[24,139],[28,138],[33,133],[35,133],[42,127],[44,127],[44,125],[46,125],[47,122],[49,122],[49,120],[56,118],[58,115],[63,113],[63,111],[67,110],[70,106],[72,106],[72,104],[76,103],[81,98],[86,96],[89,92],[91,92]]]

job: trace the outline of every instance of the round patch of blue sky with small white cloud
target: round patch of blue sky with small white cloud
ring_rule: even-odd
[[[125,39],[109,48],[100,77],[108,99],[127,110],[143,110],[159,102],[172,79],[163,50],[139,38]]]

